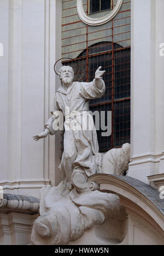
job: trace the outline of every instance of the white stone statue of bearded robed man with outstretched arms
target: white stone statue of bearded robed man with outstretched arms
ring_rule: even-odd
[[[64,151],[59,168],[66,193],[73,188],[79,192],[85,191],[87,178],[101,169],[102,155],[99,153],[97,133],[89,112],[89,100],[103,96],[106,90],[102,79],[104,73],[99,66],[92,82],[73,82],[74,71],[70,66],[62,66],[58,73],[61,86],[55,94],[52,112],[61,111],[65,116]],[[89,120],[89,126],[92,124],[92,129],[84,129],[84,124],[82,127],[82,115],[85,116],[83,120]],[[45,131],[33,139],[38,141],[49,134],[55,135],[55,119],[55,115],[51,114]],[[78,129],[68,129],[68,124]]]

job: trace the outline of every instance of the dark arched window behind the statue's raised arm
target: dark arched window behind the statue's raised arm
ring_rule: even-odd
[[[92,81],[98,66],[106,70],[106,93],[102,98],[90,101],[92,112],[106,112],[106,126],[107,112],[112,112],[112,134],[102,136],[104,131],[97,130],[100,152],[130,143],[130,60],[130,47],[112,42],[92,44],[76,58],[79,71],[75,81]],[[63,64],[75,66],[73,62]]]

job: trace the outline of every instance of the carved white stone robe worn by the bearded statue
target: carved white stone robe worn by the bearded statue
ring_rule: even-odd
[[[98,79],[99,80],[99,79]],[[92,119],[89,114],[89,99],[101,98],[106,90],[104,81],[102,88],[96,86],[95,79],[92,82],[73,82],[67,91],[62,86],[58,88],[55,94],[53,113],[62,111],[65,116],[65,134],[64,151],[60,165],[62,180],[66,183],[66,188],[71,190],[72,177],[75,173],[82,173],[87,177],[99,172],[101,168],[102,156],[99,153],[97,133],[95,126],[92,130],[71,130],[67,125],[79,125],[79,114],[86,114],[89,120]],[[66,107],[69,107],[69,114],[65,113]],[[93,120],[93,119],[92,119]],[[51,115],[48,123],[45,125],[49,129],[50,135],[54,135],[53,129],[55,116]],[[69,122],[68,122],[69,121]],[[90,123],[90,121],[89,121]]]

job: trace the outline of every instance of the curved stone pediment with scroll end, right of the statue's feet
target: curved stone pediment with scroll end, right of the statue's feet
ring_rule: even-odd
[[[154,221],[154,227],[164,232],[164,201],[155,188],[132,177],[109,174],[92,175],[87,182],[90,190],[118,194],[120,204],[128,213],[149,220],[151,224]]]

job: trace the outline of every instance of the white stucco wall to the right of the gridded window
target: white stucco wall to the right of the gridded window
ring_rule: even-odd
[[[162,116],[164,42],[162,0],[132,1],[131,156],[128,175],[149,183],[159,173],[164,145]]]

